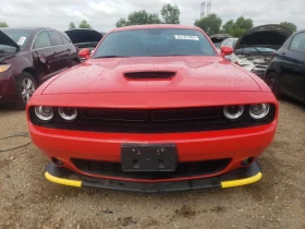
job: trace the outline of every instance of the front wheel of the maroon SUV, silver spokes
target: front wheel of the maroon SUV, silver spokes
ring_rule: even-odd
[[[17,86],[17,103],[15,107],[24,110],[30,97],[37,89],[37,83],[33,75],[27,72],[23,72],[16,81]]]

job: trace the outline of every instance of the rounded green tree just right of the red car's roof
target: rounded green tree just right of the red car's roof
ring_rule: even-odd
[[[195,25],[205,31],[209,36],[220,32],[222,20],[215,13],[195,21]]]

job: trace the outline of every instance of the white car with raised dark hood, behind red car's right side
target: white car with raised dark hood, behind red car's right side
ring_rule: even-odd
[[[280,25],[261,25],[244,33],[234,47],[236,64],[253,72],[260,79],[274,51],[290,37],[289,28]]]

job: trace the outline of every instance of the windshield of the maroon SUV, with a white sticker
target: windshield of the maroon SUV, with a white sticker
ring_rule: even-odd
[[[32,31],[29,29],[2,29],[1,32],[14,40],[21,48],[25,47],[32,34]],[[0,50],[14,52],[16,48],[12,46],[0,45]]]

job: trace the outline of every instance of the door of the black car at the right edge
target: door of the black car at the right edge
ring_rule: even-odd
[[[305,33],[294,35],[289,49],[279,51],[283,92],[305,99]]]

